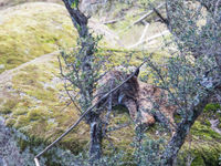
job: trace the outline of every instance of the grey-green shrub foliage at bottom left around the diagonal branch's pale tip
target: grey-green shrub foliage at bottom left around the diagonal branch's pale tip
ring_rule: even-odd
[[[34,156],[43,151],[46,146],[46,142],[35,136],[25,136],[23,133],[18,131],[13,131],[13,135],[10,137],[11,142],[17,143],[17,148],[20,149],[19,158],[22,158],[22,165],[35,166],[34,164]],[[8,146],[8,151],[10,151],[10,146]],[[9,156],[7,156],[9,157]],[[12,158],[10,160],[11,165],[14,165],[18,158]],[[41,165],[46,166],[61,166],[61,165],[69,165],[75,166],[76,164],[81,165],[81,155],[74,156],[70,151],[62,149],[60,147],[53,147],[51,151],[45,153],[41,159]]]

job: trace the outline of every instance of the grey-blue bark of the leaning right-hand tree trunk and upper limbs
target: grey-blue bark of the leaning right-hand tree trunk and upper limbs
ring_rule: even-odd
[[[213,95],[214,91],[219,90],[221,87],[220,82],[220,73],[221,73],[221,50],[220,48],[220,23],[219,15],[221,12],[221,0],[197,0],[200,2],[212,15],[212,19],[217,23],[214,29],[211,29],[213,31],[213,37],[210,37],[211,40],[208,41],[208,38],[204,37],[203,30],[200,34],[197,34],[196,32],[192,34],[194,37],[194,40],[199,44],[186,44],[186,48],[192,53],[192,55],[198,59],[202,55],[208,56],[214,56],[217,64],[218,64],[218,74],[217,77],[213,77],[213,80],[218,79],[217,85],[213,83],[213,90],[210,90],[210,92],[206,92],[206,95],[203,98],[198,98],[198,103],[196,103],[191,110],[188,111],[188,118],[183,118],[177,127],[177,131],[175,135],[169,141],[169,144],[166,146],[165,152],[161,155],[162,165],[164,166],[172,166],[175,158],[178,155],[179,149],[185,143],[185,139],[187,135],[189,134],[189,131],[196,120],[199,117],[199,115],[202,113],[204,106],[209,103],[209,98]],[[168,25],[168,29],[170,30],[171,34],[175,35],[175,38],[178,40],[178,42],[187,42],[183,40],[183,34],[186,34],[186,27],[192,25],[192,29],[194,29],[196,24],[188,24],[185,22],[185,11],[181,11],[182,6],[185,6],[183,1],[180,0],[166,0],[166,10],[167,10],[167,21],[165,23]],[[178,8],[179,7],[179,8]],[[183,15],[182,15],[183,14]],[[158,14],[160,17],[160,14]],[[164,19],[164,18],[161,18]],[[183,19],[183,20],[182,20]],[[210,27],[211,22],[208,21],[206,25]],[[187,31],[188,32],[188,31]],[[213,39],[217,40],[217,42],[213,42]],[[183,41],[182,41],[183,40]],[[209,44],[206,44],[207,42],[210,42]],[[215,44],[215,45],[214,45]],[[207,79],[207,77],[206,77]],[[199,96],[198,96],[199,97]]]

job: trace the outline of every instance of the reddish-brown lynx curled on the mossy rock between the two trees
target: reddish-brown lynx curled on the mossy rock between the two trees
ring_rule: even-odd
[[[155,106],[154,104],[157,104],[159,105],[159,112],[167,117],[170,125],[173,124],[176,108],[168,105],[167,97],[160,97],[165,92],[151,84],[138,81],[138,74],[139,72],[112,94],[112,105],[124,105],[129,111],[129,115],[134,122],[152,125],[156,122],[156,117],[151,113],[151,110]],[[99,87],[96,90],[94,102],[97,102],[110,89],[116,87],[128,76],[129,74],[125,74],[122,71],[106,73],[98,82]],[[102,101],[98,107],[105,102],[107,102],[107,98]]]

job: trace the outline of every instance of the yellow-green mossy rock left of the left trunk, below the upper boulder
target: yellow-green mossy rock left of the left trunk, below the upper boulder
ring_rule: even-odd
[[[118,52],[120,51],[112,51],[115,59],[119,55]],[[63,110],[70,98],[60,77],[56,55],[19,70],[11,81],[10,90],[7,85],[1,85],[4,95],[0,96],[0,113],[6,117],[7,124],[46,142],[52,142],[61,135],[78,118],[78,113],[73,105]],[[123,118],[129,121],[127,115],[116,117],[115,121],[119,121],[120,124]],[[112,134],[112,139],[120,145],[117,147],[125,147],[133,137],[124,129],[119,135]],[[128,138],[126,144],[125,137]],[[84,146],[88,146],[88,126],[82,123],[61,144],[74,153],[81,152]]]

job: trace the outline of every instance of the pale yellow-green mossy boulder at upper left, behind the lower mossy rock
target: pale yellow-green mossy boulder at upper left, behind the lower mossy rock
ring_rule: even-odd
[[[0,64],[4,64],[3,70],[76,43],[76,31],[62,6],[28,3],[2,11],[1,17]]]

